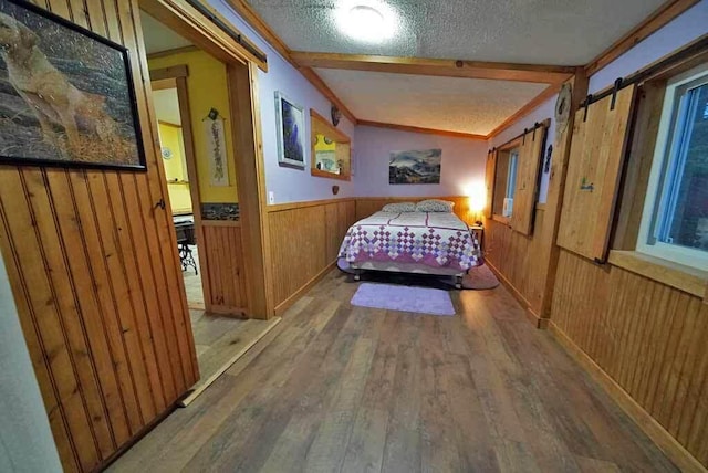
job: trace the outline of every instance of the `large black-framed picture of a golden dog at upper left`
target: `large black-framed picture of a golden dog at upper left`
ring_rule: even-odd
[[[0,1],[0,164],[146,169],[127,50]]]

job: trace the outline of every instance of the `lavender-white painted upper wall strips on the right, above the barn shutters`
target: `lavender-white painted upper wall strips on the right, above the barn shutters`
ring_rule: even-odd
[[[625,77],[654,61],[670,54],[673,51],[690,43],[697,38],[708,33],[708,0],[701,0],[659,31],[638,43],[636,46],[597,71],[589,84],[589,93],[596,93],[608,85],[614,84],[617,77]],[[535,122],[551,118],[548,145],[555,140],[554,108],[558,96],[541,104],[525,117],[512,124],[501,134],[489,140],[489,147],[503,145],[509,139],[521,134],[523,128],[533,126]],[[549,188],[549,175],[543,172],[539,192],[539,202],[545,202]]]

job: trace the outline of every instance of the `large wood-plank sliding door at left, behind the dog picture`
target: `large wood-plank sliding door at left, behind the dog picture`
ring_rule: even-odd
[[[40,7],[129,49],[147,172],[0,166],[0,250],[65,471],[92,471],[198,379],[136,0]]]

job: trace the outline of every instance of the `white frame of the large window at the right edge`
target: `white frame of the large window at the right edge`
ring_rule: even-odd
[[[664,212],[667,174],[669,167],[675,165],[674,147],[676,140],[673,133],[679,118],[680,98],[690,88],[708,83],[708,63],[701,64],[687,72],[671,77],[666,83],[664,102],[659,120],[656,145],[652,158],[652,170],[647,183],[644,208],[639,231],[637,234],[636,251],[649,256],[659,257],[678,264],[697,267],[708,267],[708,252],[664,243],[656,239],[660,214]],[[652,241],[656,240],[656,241]]]

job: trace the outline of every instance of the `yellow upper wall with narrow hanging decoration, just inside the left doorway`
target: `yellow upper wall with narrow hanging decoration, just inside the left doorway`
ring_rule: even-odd
[[[191,128],[195,138],[195,153],[197,155],[197,172],[199,175],[199,195],[201,202],[239,201],[236,189],[236,165],[233,161],[233,140],[231,137],[231,117],[229,116],[229,97],[226,80],[226,66],[220,61],[211,57],[202,51],[171,54],[155,57],[148,61],[149,69],[164,69],[179,64],[187,64],[189,77],[187,88],[189,92],[189,107],[191,111]],[[228,187],[212,187],[209,183],[209,162],[207,160],[207,137],[205,136],[201,119],[211,108],[219,111],[226,118],[227,158],[229,164]],[[183,117],[183,120],[185,117]]]

